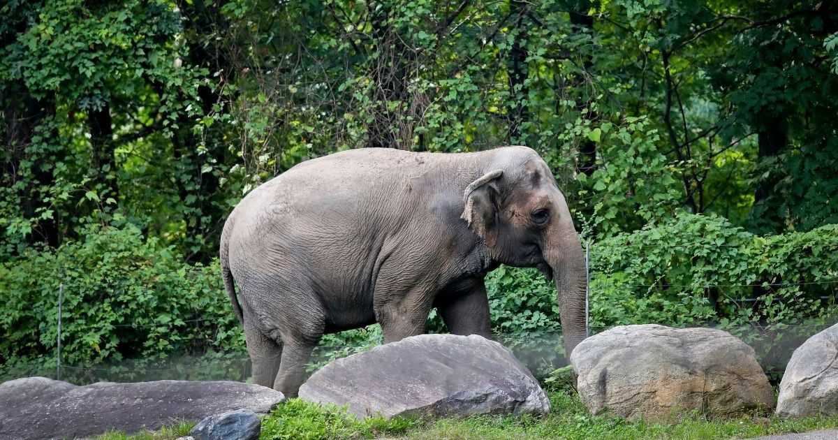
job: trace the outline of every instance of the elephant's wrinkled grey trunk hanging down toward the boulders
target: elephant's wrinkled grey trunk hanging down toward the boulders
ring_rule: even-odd
[[[556,280],[561,330],[564,333],[567,359],[573,349],[587,338],[587,269],[582,243],[573,228],[573,222],[560,222],[552,230],[551,243],[545,259]]]

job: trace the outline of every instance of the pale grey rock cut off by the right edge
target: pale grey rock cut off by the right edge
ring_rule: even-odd
[[[777,415],[838,415],[838,324],[794,350],[780,381]]]

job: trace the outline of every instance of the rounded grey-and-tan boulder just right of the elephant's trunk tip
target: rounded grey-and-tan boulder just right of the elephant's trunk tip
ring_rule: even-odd
[[[577,345],[571,364],[592,414],[674,422],[691,410],[731,414],[773,407],[753,349],[722,330],[615,327]]]

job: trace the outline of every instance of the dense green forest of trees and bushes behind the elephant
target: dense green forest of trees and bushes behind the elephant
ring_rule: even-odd
[[[6,373],[55,364],[59,290],[65,364],[241,353],[226,215],[348,148],[535,148],[590,248],[592,331],[714,325],[766,360],[835,323],[834,1],[10,0],[0,17]],[[509,344],[561,331],[537,272],[487,284]],[[552,365],[558,340],[530,348]]]

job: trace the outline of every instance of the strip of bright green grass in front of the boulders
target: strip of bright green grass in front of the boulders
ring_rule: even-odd
[[[417,440],[471,439],[678,439],[749,438],[789,432],[838,428],[838,417],[810,417],[783,420],[779,417],[748,415],[708,418],[691,414],[673,425],[626,422],[613,417],[587,414],[578,396],[566,390],[549,393],[552,411],[547,417],[478,416],[427,422],[396,417],[370,417],[358,421],[344,408],[292,399],[262,419],[261,438],[270,440],[349,440],[396,437]],[[187,435],[194,423],[169,427],[162,432],[134,435],[109,432],[97,440],[162,440]]]

